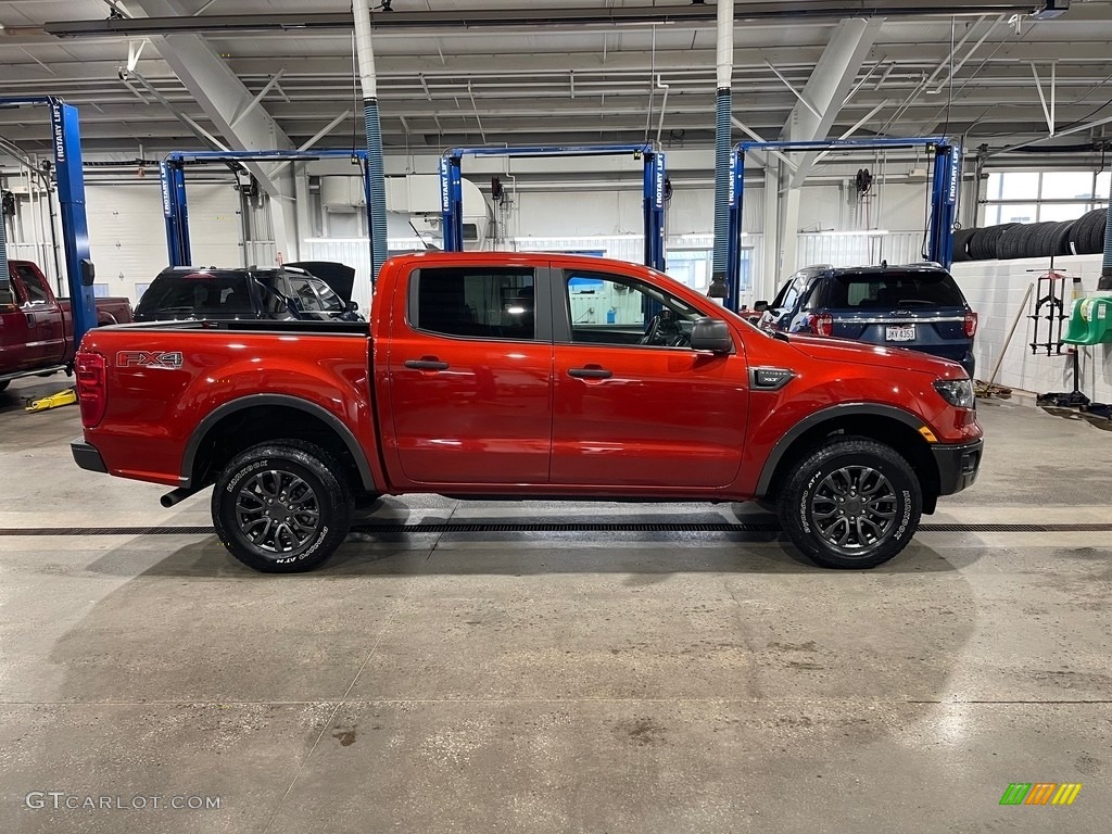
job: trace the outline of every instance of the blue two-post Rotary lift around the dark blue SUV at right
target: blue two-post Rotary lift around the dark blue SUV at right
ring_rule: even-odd
[[[837,139],[814,142],[738,142],[731,157],[729,228],[726,250],[726,308],[737,310],[741,278],[742,200],[745,193],[745,155],[751,150],[888,150],[926,148],[934,153],[931,178],[931,220],[926,230],[926,258],[950,268],[954,255],[954,222],[961,188],[962,149],[943,136],[911,139]]]

